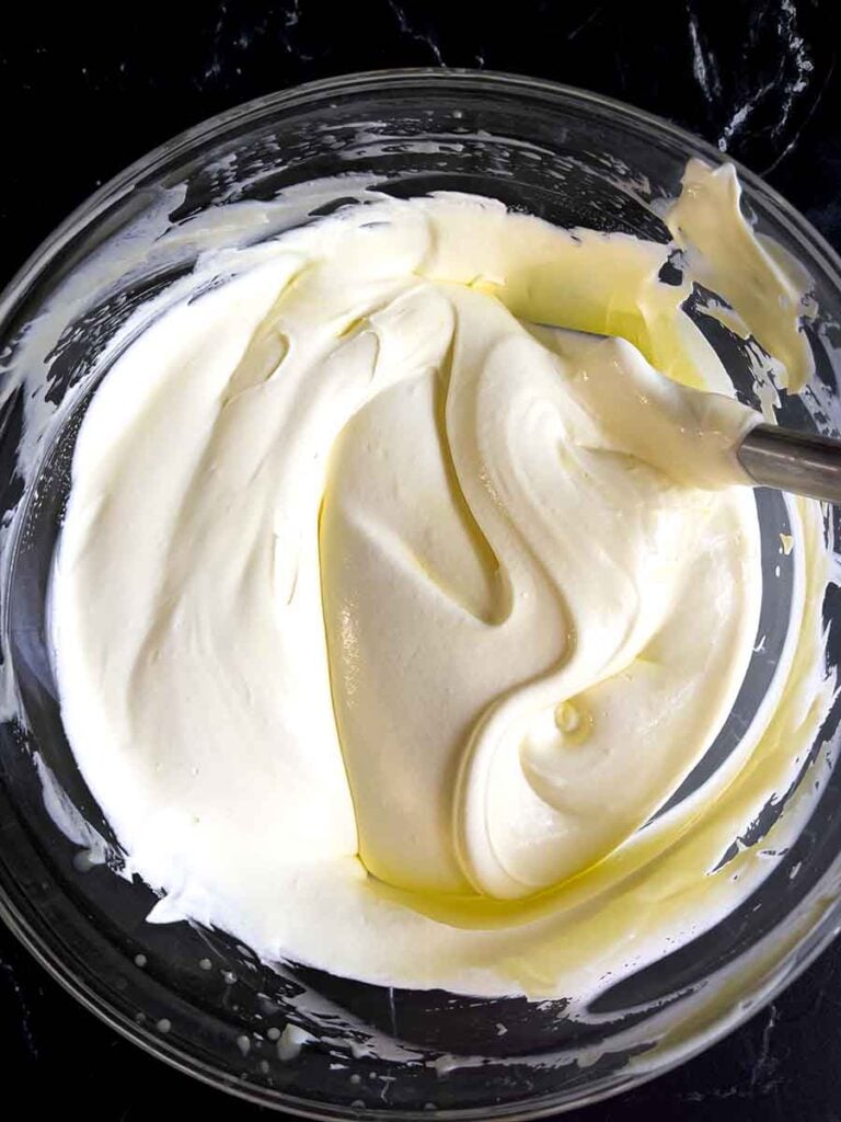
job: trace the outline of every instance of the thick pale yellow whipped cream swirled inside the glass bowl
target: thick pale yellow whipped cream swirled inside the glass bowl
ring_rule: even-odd
[[[733,454],[756,415],[682,304],[721,293],[796,389],[805,288],[730,167],[692,162],[668,223],[660,245],[470,195],[349,208],[113,364],[53,640],[153,919],[389,985],[584,997],[767,875],[720,862],[820,723],[815,504],[792,505],[771,703],[640,827],[730,712],[761,599]]]

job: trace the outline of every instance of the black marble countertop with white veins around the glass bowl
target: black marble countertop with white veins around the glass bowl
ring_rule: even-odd
[[[835,10],[834,0],[6,6],[0,279],[96,186],[187,126],[302,81],[418,65],[536,74],[668,117],[766,175],[841,249]],[[835,945],[704,1056],[565,1118],[841,1122],[840,1054]],[[4,929],[0,1094],[10,1119],[22,1113],[16,1098],[35,1116],[78,1110],[87,1122],[270,1116],[119,1039]]]

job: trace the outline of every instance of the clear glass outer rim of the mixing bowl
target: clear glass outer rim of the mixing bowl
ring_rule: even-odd
[[[17,303],[26,294],[29,285],[50,266],[55,257],[73,238],[83,232],[86,226],[94,222],[108,206],[118,202],[121,195],[133,190],[141,177],[148,178],[154,175],[168,160],[178,155],[190,153],[192,148],[197,147],[202,141],[221,139],[234,128],[246,123],[255,123],[261,118],[269,118],[278,110],[301,108],[306,103],[312,103],[314,100],[317,101],[330,96],[361,92],[382,92],[383,90],[408,90],[423,86],[426,83],[438,86],[451,84],[454,89],[470,86],[473,92],[478,93],[486,91],[503,94],[517,94],[518,92],[527,95],[542,94],[546,98],[547,102],[552,102],[555,105],[566,104],[569,107],[589,109],[593,114],[604,119],[616,120],[619,118],[622,121],[629,121],[639,130],[648,132],[651,136],[665,136],[680,144],[687,153],[705,158],[714,165],[732,164],[738,172],[742,185],[748,187],[752,195],[761,200],[767,211],[777,221],[782,222],[787,228],[787,232],[807,250],[811,260],[823,270],[832,286],[841,289],[841,255],[833,249],[823,234],[800,211],[759,175],[751,172],[739,160],[733,159],[726,151],[720,150],[703,138],[674,125],[665,118],[646,110],[637,109],[623,101],[601,93],[526,74],[470,67],[392,67],[333,75],[262,94],[184,129],[133,160],[128,167],[119,172],[76,206],[36,247],[12,275],[11,279],[3,286],[2,291],[0,291],[0,328],[2,328],[8,318],[13,313]],[[1,384],[2,376],[0,376]],[[840,861],[841,855],[791,916],[804,910],[811,910],[810,902],[813,902],[815,896],[821,894],[821,889],[825,886],[826,881],[832,875],[833,868],[839,866]],[[491,1116],[508,1119],[511,1122],[547,1118],[603,1101],[666,1074],[719,1042],[758,1013],[774,1001],[780,991],[798,977],[821,951],[826,948],[838,931],[841,930],[841,923],[839,922],[841,920],[841,898],[835,892],[832,893],[832,901],[820,918],[808,927],[805,935],[793,942],[771,968],[767,984],[761,987],[761,992],[755,1002],[743,1004],[736,1009],[729,1017],[715,1019],[711,1026],[705,1028],[702,1026],[700,1029],[695,1029],[693,1034],[682,1041],[680,1047],[667,1049],[663,1055],[663,1061],[657,1064],[654,1069],[632,1072],[629,1078],[620,1079],[617,1085],[611,1085],[611,1080],[616,1078],[614,1076],[607,1076],[601,1083],[595,1083],[585,1095],[575,1102],[556,1103],[552,1101],[554,1096],[549,1094],[533,1102],[519,1100],[492,1107],[443,1107],[435,1111],[435,1116],[443,1120],[472,1119],[475,1122],[483,1122],[483,1120]],[[142,1048],[144,1051],[164,1060],[178,1072],[200,1079],[209,1086],[269,1110],[286,1110],[301,1118],[326,1120],[326,1122],[349,1116],[359,1120],[371,1120],[371,1122],[388,1119],[422,1120],[429,1116],[429,1112],[426,1111],[396,1111],[392,1107],[382,1111],[369,1107],[354,1107],[352,1112],[349,1112],[349,1110],[338,1105],[334,1106],[327,1103],[314,1104],[309,1100],[301,1100],[296,1095],[285,1091],[275,1092],[272,1098],[269,1100],[260,1094],[257,1088],[252,1088],[249,1084],[240,1083],[224,1073],[209,1068],[207,1065],[197,1061],[187,1054],[183,1054],[181,1049],[169,1046],[159,1037],[153,1036],[139,1023],[123,1019],[122,1014],[109,1008],[100,996],[90,990],[81,977],[76,977],[53,953],[49,942],[31,927],[12,899],[6,893],[2,885],[0,885],[0,920],[2,920],[36,962],[47,971],[50,977],[58,982],[83,1008],[92,1012],[121,1037]]]

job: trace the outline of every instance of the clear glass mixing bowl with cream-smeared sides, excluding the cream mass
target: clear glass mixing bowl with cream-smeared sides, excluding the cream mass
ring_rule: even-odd
[[[838,929],[834,769],[798,840],[742,907],[608,990],[583,1019],[567,1018],[563,1002],[392,991],[269,967],[221,932],[146,922],[156,896],[119,875],[119,849],[74,765],[56,700],[46,594],[78,421],[118,328],[150,296],[165,296],[200,254],[329,213],[361,184],[399,195],[478,192],[561,226],[665,240],[659,202],[677,192],[690,156],[721,159],[664,121],[547,82],[442,71],[341,77],[251,102],[154,151],[73,214],[7,289],[0,912],[81,1002],[161,1059],[311,1118],[536,1118],[699,1051],[795,977]],[[336,178],[312,185],[324,177]],[[807,268],[820,309],[808,329],[813,390],[786,399],[782,420],[837,433],[838,258],[761,181],[741,177],[758,229]],[[266,205],[281,193],[283,205]],[[745,348],[712,321],[705,330],[749,397]],[[757,502],[766,572],[780,572],[766,581],[767,642],[708,769],[761,703],[788,628],[792,564],[778,548],[786,506],[771,493]],[[837,600],[824,613],[834,665]],[[834,761],[837,719],[828,718],[813,762],[819,753]],[[685,789],[702,779],[703,767]],[[756,824],[748,840],[760,844],[764,828]]]

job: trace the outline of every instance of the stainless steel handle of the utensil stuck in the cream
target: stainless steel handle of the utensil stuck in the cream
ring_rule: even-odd
[[[737,449],[739,462],[764,487],[841,503],[841,441],[758,424]]]

